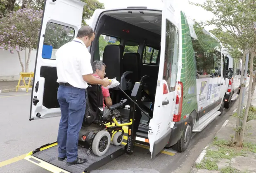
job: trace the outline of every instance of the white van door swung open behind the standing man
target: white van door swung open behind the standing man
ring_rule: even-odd
[[[83,6],[79,0],[45,0],[39,34],[30,119],[60,116],[57,100],[55,53],[70,42],[81,28]]]

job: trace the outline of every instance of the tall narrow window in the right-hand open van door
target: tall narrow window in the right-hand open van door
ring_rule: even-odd
[[[178,28],[166,19],[166,44],[164,56],[163,79],[168,84],[169,91],[175,90],[178,72],[178,53],[179,53],[179,33]]]

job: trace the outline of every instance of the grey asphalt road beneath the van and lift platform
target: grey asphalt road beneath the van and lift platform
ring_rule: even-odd
[[[57,140],[60,117],[28,121],[30,99],[31,93],[22,91],[0,94],[1,173],[49,173],[22,157],[41,145]],[[195,133],[189,148],[183,153],[176,153],[174,156],[159,153],[155,159],[150,159],[149,150],[135,147],[133,155],[124,154],[92,173],[188,173],[236,104],[230,110],[224,110],[223,115],[217,117],[201,133]]]

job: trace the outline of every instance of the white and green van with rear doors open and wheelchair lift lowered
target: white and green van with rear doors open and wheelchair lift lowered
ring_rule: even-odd
[[[149,145],[152,157],[164,147],[183,152],[192,132],[202,131],[221,115],[226,92],[221,43],[198,29],[179,10],[177,0],[162,1],[162,10],[97,9],[92,16],[96,35],[88,48],[91,62],[103,61],[106,77],[120,81],[125,94],[120,88],[109,89],[113,104],[122,98],[129,101],[119,110],[122,119],[117,119],[133,120],[124,128],[123,145],[111,145],[103,156],[90,153],[88,162],[78,166],[57,160],[56,142],[39,147],[25,159],[66,173],[97,169],[125,152],[132,154],[135,142]],[[45,0],[30,120],[61,115],[55,51],[76,37],[84,5],[80,0]],[[131,79],[126,78],[127,71],[133,72]],[[78,155],[87,152],[78,147]]]

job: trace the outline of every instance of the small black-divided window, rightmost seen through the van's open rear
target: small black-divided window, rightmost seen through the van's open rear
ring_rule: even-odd
[[[153,47],[146,46],[146,51],[143,51],[143,63],[156,65],[158,58],[159,50],[154,49]]]

